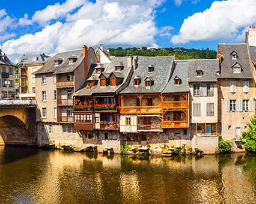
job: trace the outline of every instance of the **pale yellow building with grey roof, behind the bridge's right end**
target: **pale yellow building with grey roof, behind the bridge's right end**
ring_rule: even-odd
[[[35,75],[50,58],[44,54],[25,55],[19,61],[19,98],[35,98]]]

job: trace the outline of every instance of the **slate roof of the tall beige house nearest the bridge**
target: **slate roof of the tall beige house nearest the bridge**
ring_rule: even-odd
[[[75,55],[78,56],[78,60],[73,64],[69,64],[69,57]],[[63,59],[62,63],[55,66],[56,59]],[[35,71],[33,74],[43,74],[43,73],[70,73],[74,71],[83,61],[83,50],[72,50],[67,52],[57,53],[55,56],[47,60],[47,63],[43,65],[39,70]]]

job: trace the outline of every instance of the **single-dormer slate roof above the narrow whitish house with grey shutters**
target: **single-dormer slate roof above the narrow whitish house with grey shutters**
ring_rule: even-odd
[[[189,82],[217,82],[219,59],[189,59],[176,62],[187,62],[187,76]],[[197,76],[197,71],[203,71],[202,76]]]

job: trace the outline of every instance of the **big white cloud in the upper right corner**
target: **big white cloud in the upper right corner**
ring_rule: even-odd
[[[256,23],[255,0],[215,1],[207,10],[184,20],[173,44],[197,40],[236,39],[239,30]]]

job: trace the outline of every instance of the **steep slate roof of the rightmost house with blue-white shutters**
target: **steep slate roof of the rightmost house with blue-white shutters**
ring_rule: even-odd
[[[251,73],[251,62],[247,44],[218,44],[218,49],[221,49],[223,56],[221,63],[221,73],[218,78],[231,79],[254,79]],[[237,59],[231,59],[230,54],[237,52]],[[232,66],[239,63],[242,66],[241,73],[233,73]]]

